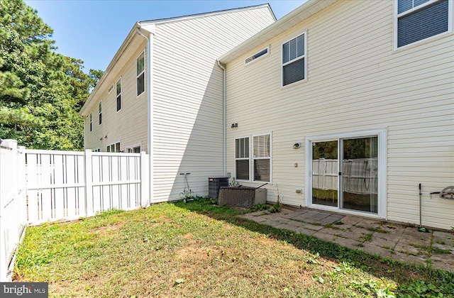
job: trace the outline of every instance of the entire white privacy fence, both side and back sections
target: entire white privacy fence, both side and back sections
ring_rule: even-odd
[[[26,224],[148,206],[148,155],[1,147],[0,282]]]

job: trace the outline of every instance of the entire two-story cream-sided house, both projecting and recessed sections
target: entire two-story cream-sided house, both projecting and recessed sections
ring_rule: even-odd
[[[268,202],[450,229],[453,13],[308,0],[136,23],[82,108],[86,148],[148,151],[151,202],[230,174]]]

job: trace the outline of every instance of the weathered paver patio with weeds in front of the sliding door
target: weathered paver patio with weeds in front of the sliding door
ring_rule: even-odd
[[[454,272],[454,235],[447,231],[421,233],[413,225],[314,209],[282,209],[273,214],[257,211],[239,217],[363,250],[382,258],[431,264],[432,267]]]

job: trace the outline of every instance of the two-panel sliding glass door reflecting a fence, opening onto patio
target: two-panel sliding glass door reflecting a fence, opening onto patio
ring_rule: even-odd
[[[310,141],[311,204],[378,213],[378,136]]]

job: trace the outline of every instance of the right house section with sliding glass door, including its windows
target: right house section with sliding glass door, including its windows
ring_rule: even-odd
[[[454,226],[431,194],[454,185],[454,1],[414,2],[309,0],[221,56],[227,171],[269,202],[418,224],[421,184],[422,224]]]

